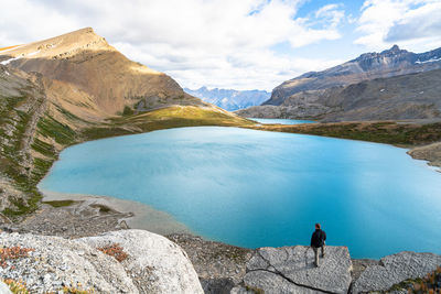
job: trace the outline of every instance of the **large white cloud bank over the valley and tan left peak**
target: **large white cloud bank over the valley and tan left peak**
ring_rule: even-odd
[[[341,6],[295,17],[303,0],[14,0],[2,3],[0,44],[36,41],[93,26],[129,58],[182,86],[272,89],[334,62],[271,51],[341,37]],[[25,20],[25,21],[23,21]],[[284,73],[284,74],[280,74]]]

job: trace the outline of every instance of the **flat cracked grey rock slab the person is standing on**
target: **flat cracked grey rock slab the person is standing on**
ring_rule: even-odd
[[[326,247],[320,268],[313,261],[310,247],[260,248],[247,263],[245,286],[265,293],[347,293],[352,263],[346,247]]]

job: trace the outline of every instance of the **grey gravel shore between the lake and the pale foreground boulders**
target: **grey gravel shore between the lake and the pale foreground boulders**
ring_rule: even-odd
[[[207,293],[218,293],[224,288],[240,285],[247,274],[247,262],[257,252],[257,249],[211,241],[190,230],[185,231],[183,230],[184,225],[144,204],[108,196],[47,190],[42,193],[45,195],[42,209],[20,224],[3,225],[0,229],[9,232],[57,236],[67,239],[93,237],[108,231],[133,228],[153,231],[175,242],[187,253],[203,288],[208,290]],[[57,202],[68,205],[53,207],[52,205]],[[135,209],[129,211],[129,208]],[[158,230],[149,224],[150,220],[157,221],[158,215],[160,219],[168,221],[165,229]],[[352,259],[352,263],[351,276],[355,280],[368,266],[379,264],[379,260]]]

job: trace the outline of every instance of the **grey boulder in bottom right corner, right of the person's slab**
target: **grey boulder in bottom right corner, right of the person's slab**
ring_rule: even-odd
[[[383,258],[368,266],[354,282],[353,293],[388,291],[409,279],[423,277],[441,265],[441,255],[404,251]]]

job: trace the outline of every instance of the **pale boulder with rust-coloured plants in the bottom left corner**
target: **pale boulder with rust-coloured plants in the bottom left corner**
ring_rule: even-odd
[[[31,249],[0,266],[0,280],[23,281],[30,293],[57,293],[64,286],[97,293],[139,293],[122,265],[88,244],[61,237],[0,233],[3,250]]]

